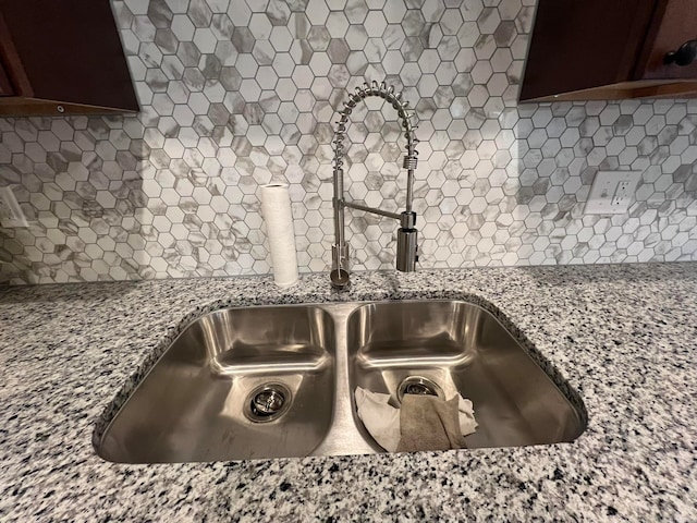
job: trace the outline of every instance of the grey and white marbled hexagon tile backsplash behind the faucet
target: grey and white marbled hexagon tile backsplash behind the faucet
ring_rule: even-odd
[[[387,80],[420,120],[420,265],[697,259],[697,100],[516,104],[534,0],[113,0],[143,111],[0,120],[4,281],[269,269],[258,186],[291,185],[301,270],[330,264],[331,139],[346,90]],[[348,129],[348,197],[405,197],[395,114]],[[598,169],[640,170],[628,216],[585,216]],[[347,211],[356,270],[395,223]]]

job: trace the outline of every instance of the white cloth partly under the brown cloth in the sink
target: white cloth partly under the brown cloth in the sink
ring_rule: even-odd
[[[400,445],[400,410],[389,404],[390,394],[370,392],[356,387],[354,392],[358,417],[380,447],[388,452],[394,452]],[[457,397],[460,411],[460,430],[463,436],[477,429],[475,412],[472,401]]]

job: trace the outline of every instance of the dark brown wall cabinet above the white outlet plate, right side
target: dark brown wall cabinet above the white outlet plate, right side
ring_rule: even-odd
[[[697,0],[539,0],[521,101],[694,97]],[[683,49],[685,50],[685,49]]]

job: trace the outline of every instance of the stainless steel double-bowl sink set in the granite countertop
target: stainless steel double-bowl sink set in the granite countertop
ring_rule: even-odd
[[[189,324],[96,451],[124,463],[383,452],[356,414],[354,390],[392,394],[399,406],[405,380],[416,384],[407,392],[435,386],[472,400],[479,427],[468,448],[573,441],[586,428],[575,391],[562,382],[562,393],[478,305],[279,305],[220,309]]]

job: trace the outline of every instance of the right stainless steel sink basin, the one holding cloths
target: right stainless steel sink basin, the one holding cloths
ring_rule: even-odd
[[[362,305],[347,318],[347,348],[352,390],[392,394],[391,403],[399,406],[400,385],[416,377],[417,393],[472,400],[479,426],[465,438],[468,448],[573,441],[585,429],[582,415],[550,377],[491,313],[475,304]]]

